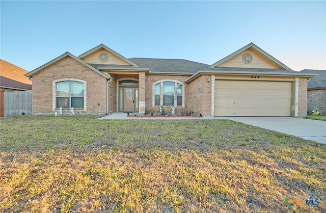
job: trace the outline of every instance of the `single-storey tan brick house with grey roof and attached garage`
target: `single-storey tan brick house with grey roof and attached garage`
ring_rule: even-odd
[[[100,44],[69,52],[25,74],[33,81],[33,114],[73,107],[81,114],[158,112],[176,107],[204,116],[307,114],[307,80],[254,43],[203,64],[181,59],[127,59]],[[148,112],[148,111],[147,111]]]

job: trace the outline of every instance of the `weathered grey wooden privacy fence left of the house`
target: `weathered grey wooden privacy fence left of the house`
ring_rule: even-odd
[[[2,101],[2,100],[1,100]],[[32,90],[27,91],[5,91],[3,95],[3,115],[21,116],[32,114]]]

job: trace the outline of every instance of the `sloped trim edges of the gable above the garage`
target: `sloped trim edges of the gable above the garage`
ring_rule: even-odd
[[[220,64],[222,64],[223,62],[233,58],[234,56],[240,54],[242,51],[249,49],[249,48],[254,48],[255,50],[257,50],[258,52],[260,52],[260,54],[264,55],[265,57],[267,57],[268,59],[270,59],[271,61],[273,61],[274,63],[278,64],[280,67],[286,69],[286,70],[291,70],[289,67],[287,67],[285,64],[283,64],[282,62],[280,62],[279,60],[277,60],[276,58],[274,58],[273,56],[269,55],[267,52],[265,52],[264,50],[262,50],[260,47],[258,47],[256,44],[254,43],[250,43],[244,47],[242,47],[241,49],[233,52],[233,54],[221,59],[218,62],[215,62],[214,64],[210,65],[210,68],[214,68],[216,66],[219,66]]]

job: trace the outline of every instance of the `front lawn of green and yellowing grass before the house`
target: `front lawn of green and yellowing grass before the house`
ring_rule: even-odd
[[[324,144],[229,120],[98,117],[1,118],[0,212],[326,212]]]

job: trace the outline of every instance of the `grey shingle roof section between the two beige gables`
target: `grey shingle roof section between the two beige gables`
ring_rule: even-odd
[[[149,68],[150,73],[194,74],[209,65],[184,59],[131,58],[140,67]]]

